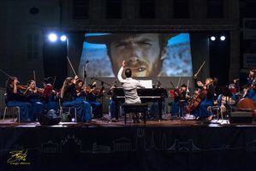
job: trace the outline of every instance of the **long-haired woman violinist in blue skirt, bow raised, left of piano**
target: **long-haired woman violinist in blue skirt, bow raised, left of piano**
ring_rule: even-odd
[[[76,109],[77,121],[84,121],[86,116],[86,103],[77,96],[75,90],[75,84],[78,76],[75,75],[74,78],[68,77],[63,82],[63,87],[61,90],[61,105],[63,107],[71,107]]]

